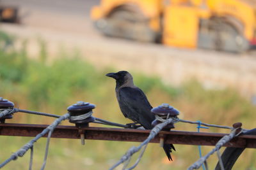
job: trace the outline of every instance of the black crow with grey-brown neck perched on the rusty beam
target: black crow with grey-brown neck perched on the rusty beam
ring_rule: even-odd
[[[144,92],[134,85],[132,75],[127,71],[119,71],[108,73],[106,76],[116,80],[116,98],[124,117],[141,124],[145,129],[152,129],[151,122],[155,119],[150,112],[152,106]],[[174,146],[164,144],[163,148],[168,159],[172,160],[170,152],[172,152],[172,149],[175,150]]]

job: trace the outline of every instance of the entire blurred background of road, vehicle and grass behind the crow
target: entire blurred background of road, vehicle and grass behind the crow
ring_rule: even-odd
[[[95,117],[127,124],[115,81],[105,76],[127,70],[153,107],[169,103],[186,120],[255,128],[255,5],[254,0],[1,0],[0,96],[20,109],[58,115],[86,101],[97,105]],[[53,120],[17,113],[6,122]],[[175,130],[197,131],[182,123]],[[0,138],[1,162],[31,139]],[[138,145],[88,140],[81,146],[79,140],[52,138],[46,169],[108,169]],[[197,146],[175,148],[169,162],[158,144],[148,145],[136,169],[186,169],[199,158]],[[33,167],[39,169],[45,139],[34,149]],[[203,146],[203,155],[211,149]],[[255,160],[255,150],[246,149],[234,169],[256,169]],[[217,161],[210,157],[210,169]],[[28,166],[29,153],[3,169]]]

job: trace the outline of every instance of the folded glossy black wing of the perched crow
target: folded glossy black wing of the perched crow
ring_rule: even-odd
[[[152,129],[151,122],[154,120],[154,115],[150,112],[152,106],[141,89],[121,88],[118,91],[118,103],[127,118],[140,123],[145,129]]]

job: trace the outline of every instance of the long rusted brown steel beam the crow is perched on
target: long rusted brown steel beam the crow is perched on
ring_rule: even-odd
[[[1,136],[36,136],[48,125],[33,124],[0,124]],[[85,139],[108,140],[108,141],[144,141],[149,134],[149,130],[139,129],[116,129],[106,127],[84,127]],[[159,136],[164,137],[165,143],[182,145],[216,145],[225,134],[204,133],[204,132],[185,132],[185,131],[161,131],[151,143],[159,143]],[[44,136],[47,137],[47,136]],[[52,138],[79,139],[79,129],[75,126],[59,125],[54,129]],[[225,146],[237,148],[256,148],[256,136],[241,135],[232,139]]]

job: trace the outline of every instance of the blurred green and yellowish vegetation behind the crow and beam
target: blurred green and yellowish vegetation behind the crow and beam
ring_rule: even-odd
[[[3,34],[4,36],[1,36]],[[88,101],[96,104],[93,115],[122,124],[125,119],[115,99],[115,83],[106,76],[115,69],[95,69],[92,64],[81,60],[81,56],[65,53],[57,60],[47,59],[47,45],[40,41],[42,50],[38,60],[30,59],[26,53],[26,41],[21,49],[5,46],[12,40],[4,33],[0,40],[0,96],[15,103],[16,107],[28,110],[64,114],[67,107],[76,101]],[[10,44],[10,43],[9,43]],[[132,71],[131,71],[132,72]],[[243,127],[255,127],[255,106],[240,97],[234,90],[205,90],[198,82],[189,81],[182,87],[164,85],[157,77],[148,77],[134,73],[134,81],[148,96],[152,106],[170,103],[178,108],[180,117],[187,120],[232,125],[243,122]],[[38,117],[17,113],[7,122],[50,124],[53,118]],[[69,124],[67,121],[63,124]],[[93,124],[95,125],[95,124]],[[177,124],[177,130],[196,131],[195,125]],[[228,132],[219,129],[202,130],[210,132]],[[31,138],[0,136],[2,146],[0,161],[3,162]],[[138,143],[113,141],[86,141],[85,146],[79,140],[51,139],[47,169],[108,169],[131,146]],[[175,145],[173,162],[166,160],[165,154],[157,144],[150,144],[137,169],[186,169],[198,159],[196,146]],[[45,139],[35,144],[33,166],[39,169],[44,157]],[[211,147],[202,147],[203,153]],[[137,155],[134,156],[134,159]],[[245,159],[246,158],[246,159]],[[134,160],[133,159],[133,160]],[[234,169],[255,169],[254,150],[246,150]],[[214,167],[216,156],[209,159],[209,166]],[[243,161],[243,162],[242,162]],[[27,169],[29,153],[24,158],[10,162],[4,169]]]

